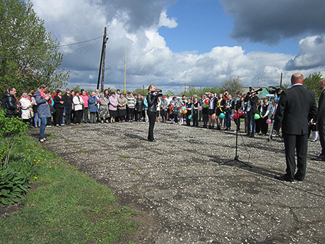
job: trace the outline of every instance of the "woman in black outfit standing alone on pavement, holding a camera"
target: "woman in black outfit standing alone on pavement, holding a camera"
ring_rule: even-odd
[[[150,85],[148,87],[147,102],[148,102],[148,117],[149,117],[148,140],[155,141],[155,139],[153,138],[153,127],[155,127],[155,120],[157,118],[157,104],[158,104],[158,96],[157,93],[155,92],[155,85]]]

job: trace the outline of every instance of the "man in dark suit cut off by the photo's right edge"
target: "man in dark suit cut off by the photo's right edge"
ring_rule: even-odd
[[[319,130],[319,141],[321,141],[321,155],[313,158],[317,161],[325,161],[325,79],[319,81],[319,90],[321,96],[319,97],[317,115],[314,117],[314,122],[317,122]]]

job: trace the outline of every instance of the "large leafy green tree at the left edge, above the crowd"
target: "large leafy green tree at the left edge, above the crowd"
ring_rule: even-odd
[[[0,2],[0,89],[35,89],[66,86],[69,71],[58,70],[62,54],[59,43],[46,32],[30,1]]]

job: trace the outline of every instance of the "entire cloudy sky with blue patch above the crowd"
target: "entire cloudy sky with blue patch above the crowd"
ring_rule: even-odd
[[[32,0],[61,47],[69,86],[95,89],[104,27],[110,38],[105,88],[174,92],[220,86],[274,86],[296,71],[325,74],[324,0]]]

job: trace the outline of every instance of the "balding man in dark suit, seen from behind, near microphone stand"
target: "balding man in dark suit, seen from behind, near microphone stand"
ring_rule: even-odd
[[[312,91],[302,87],[304,76],[296,73],[291,76],[291,88],[281,93],[274,121],[278,133],[281,124],[285,142],[284,175],[275,176],[277,180],[293,182],[305,178],[307,164],[308,122],[316,115],[315,96]],[[295,149],[297,151],[297,173],[295,173]]]

